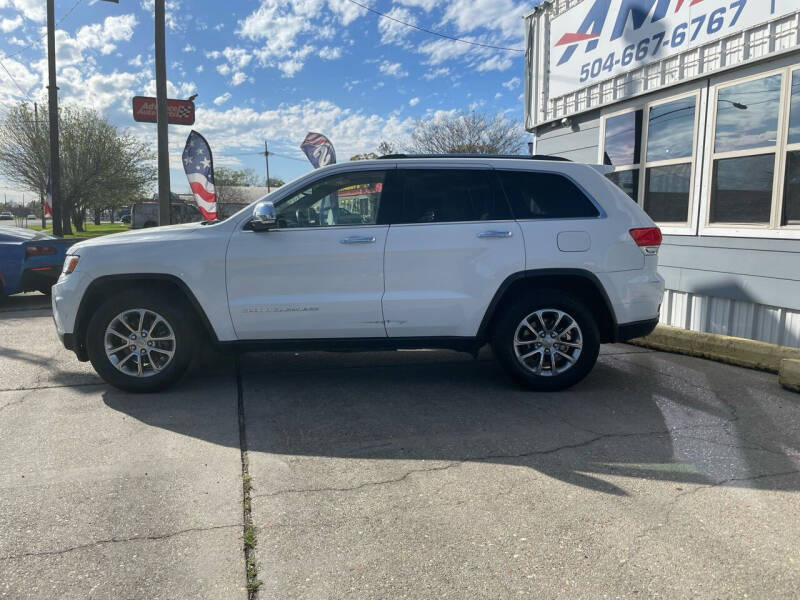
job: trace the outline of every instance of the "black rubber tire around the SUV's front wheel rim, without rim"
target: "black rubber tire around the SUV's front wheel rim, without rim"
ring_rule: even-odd
[[[144,357],[131,357],[136,359],[135,361],[129,361],[131,364],[138,366],[141,361],[144,365],[142,371],[145,373],[148,371],[151,372],[148,376],[136,376],[123,373],[119,368],[114,366],[111,362],[111,358],[106,354],[107,328],[115,321],[118,315],[134,309],[144,309],[145,311],[156,313],[158,316],[162,317],[174,334],[174,345],[171,346],[164,346],[164,344],[168,344],[168,342],[149,342],[151,346],[153,344],[156,346],[161,344],[167,351],[169,351],[170,348],[172,349],[173,354],[171,360],[162,362],[161,370],[157,371]],[[152,323],[151,321],[151,324]],[[115,326],[118,330],[125,331],[119,321],[116,321]],[[145,323],[144,327],[141,329],[145,329],[147,326],[148,324]],[[163,325],[155,326],[163,327]],[[136,325],[134,323],[134,328],[135,327]],[[157,290],[129,290],[111,296],[100,305],[97,311],[95,311],[86,330],[86,350],[95,371],[97,371],[98,375],[106,382],[127,392],[149,393],[163,390],[183,376],[189,364],[192,362],[198,338],[197,325],[195,319],[192,318],[191,309],[186,306],[186,302],[178,294],[170,294]],[[111,335],[109,339],[117,338]],[[141,340],[142,337],[140,333],[139,341],[135,343],[139,343]],[[124,342],[121,342],[121,344],[124,346]],[[126,351],[127,349],[123,350],[123,352]],[[166,360],[166,353],[158,354],[159,350],[157,347],[151,348],[151,351],[155,353],[156,356],[154,362]],[[139,352],[141,352],[141,350],[139,350]],[[146,349],[145,352],[147,352]],[[151,356],[150,353],[147,355]],[[119,356],[120,355],[116,355],[118,361],[120,360]],[[122,356],[124,357],[125,354]]]

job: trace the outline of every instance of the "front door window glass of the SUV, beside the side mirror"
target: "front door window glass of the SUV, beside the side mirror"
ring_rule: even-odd
[[[363,171],[315,181],[276,206],[278,227],[374,225],[385,179],[385,171]]]

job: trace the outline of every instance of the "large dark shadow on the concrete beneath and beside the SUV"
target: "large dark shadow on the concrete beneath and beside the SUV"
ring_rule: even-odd
[[[485,356],[287,353],[241,360],[251,452],[512,465],[616,496],[628,495],[625,478],[800,487],[799,477],[785,476],[797,473],[787,456],[800,451],[797,429],[775,423],[796,423],[797,407],[783,417],[770,414],[762,374],[725,365],[632,349],[601,356],[594,372],[566,392],[532,393]],[[743,382],[756,375],[755,384],[731,392],[731,370]],[[217,424],[198,423],[185,410],[187,398],[204,398],[202,380],[181,388],[156,396],[109,389],[104,401],[152,426],[228,443]],[[176,420],[176,412],[184,418]]]

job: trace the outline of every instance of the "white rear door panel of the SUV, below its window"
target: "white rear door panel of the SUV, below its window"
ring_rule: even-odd
[[[389,337],[470,337],[525,248],[514,221],[392,225],[385,265]]]

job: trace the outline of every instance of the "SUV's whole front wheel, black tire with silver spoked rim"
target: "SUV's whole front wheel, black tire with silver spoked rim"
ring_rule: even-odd
[[[163,292],[123,292],[95,312],[86,350],[114,387],[155,392],[177,381],[194,354],[197,335],[182,299]]]

